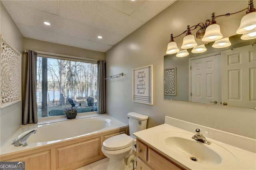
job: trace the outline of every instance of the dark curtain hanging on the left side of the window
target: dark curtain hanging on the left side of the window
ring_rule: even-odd
[[[25,61],[25,83],[24,83],[24,100],[22,124],[37,123],[37,103],[36,103],[36,53],[28,50],[27,59]]]

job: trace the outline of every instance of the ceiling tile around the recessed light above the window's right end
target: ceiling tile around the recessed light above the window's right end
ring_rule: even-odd
[[[99,39],[98,36],[102,36],[102,39]],[[114,34],[105,30],[96,29],[92,34],[90,40],[98,43],[105,43],[108,45],[115,45],[117,42],[120,42],[124,36]]]

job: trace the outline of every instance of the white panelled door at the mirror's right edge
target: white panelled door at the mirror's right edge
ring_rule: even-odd
[[[221,52],[222,103],[256,107],[256,45]]]

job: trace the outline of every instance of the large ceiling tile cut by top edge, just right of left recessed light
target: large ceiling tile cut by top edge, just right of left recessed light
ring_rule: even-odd
[[[134,31],[143,24],[98,1],[61,1],[59,15],[110,32]]]

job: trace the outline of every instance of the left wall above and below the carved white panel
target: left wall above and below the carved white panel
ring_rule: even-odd
[[[23,37],[12,18],[0,2],[0,34],[20,53],[23,51]],[[10,138],[21,125],[22,102],[0,109],[0,146]]]

